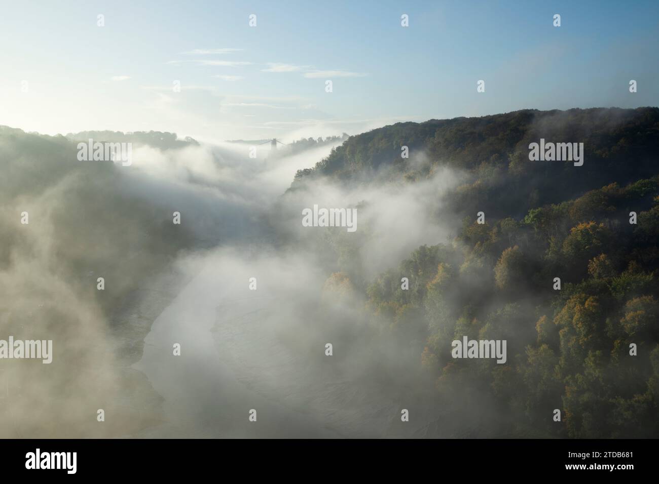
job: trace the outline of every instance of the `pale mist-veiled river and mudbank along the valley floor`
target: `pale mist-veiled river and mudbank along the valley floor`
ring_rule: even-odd
[[[268,239],[262,213],[286,186],[278,188],[260,205],[225,209],[230,244],[177,261],[189,282],[153,321],[134,364],[163,398],[164,421],[134,437],[381,437],[399,421],[399,402],[360,381],[358,368],[346,372],[342,356],[325,356],[322,328],[301,320],[307,292],[322,289],[318,265],[255,242]],[[145,294],[142,305],[161,297]]]

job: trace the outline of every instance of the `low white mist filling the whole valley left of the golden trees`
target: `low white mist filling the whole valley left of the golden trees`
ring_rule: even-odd
[[[124,167],[77,161],[69,138],[0,137],[11,187],[1,196],[2,337],[54,348],[49,365],[3,365],[3,437],[401,431],[389,428],[401,394],[389,370],[418,356],[373,340],[348,277],[369,279],[451,234],[442,196],[461,175],[285,193],[333,146],[252,158],[247,144],[136,143]],[[357,207],[357,231],[302,227],[314,204]]]

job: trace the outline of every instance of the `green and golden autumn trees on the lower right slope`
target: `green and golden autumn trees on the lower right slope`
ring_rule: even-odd
[[[484,389],[515,412],[523,435],[656,436],[659,284],[647,255],[658,250],[656,192],[652,178],[536,207],[521,221],[467,217],[451,246],[422,246],[376,279],[369,304],[399,337],[425,335],[420,367],[440,391]],[[629,206],[642,230],[629,227]],[[409,291],[400,290],[403,275]],[[557,275],[563,285],[554,291]],[[453,360],[451,341],[463,336],[507,340],[507,365]],[[562,425],[550,418],[554,408]]]

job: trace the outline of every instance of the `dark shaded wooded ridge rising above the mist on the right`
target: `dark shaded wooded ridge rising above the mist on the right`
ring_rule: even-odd
[[[529,161],[529,144],[583,142],[585,163]],[[525,110],[479,118],[404,122],[351,136],[303,178],[420,180],[438,166],[468,170],[473,183],[461,187],[455,207],[471,213],[489,203],[491,215],[575,198],[612,182],[627,184],[656,174],[659,109]],[[407,146],[409,159],[401,157]],[[422,154],[420,162],[415,156]],[[558,166],[557,166],[558,163]],[[494,211],[494,212],[492,212]]]

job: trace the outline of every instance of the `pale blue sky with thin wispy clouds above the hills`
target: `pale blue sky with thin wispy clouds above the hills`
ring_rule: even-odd
[[[659,99],[656,1],[1,0],[0,11],[0,125],[43,134],[288,142]]]

